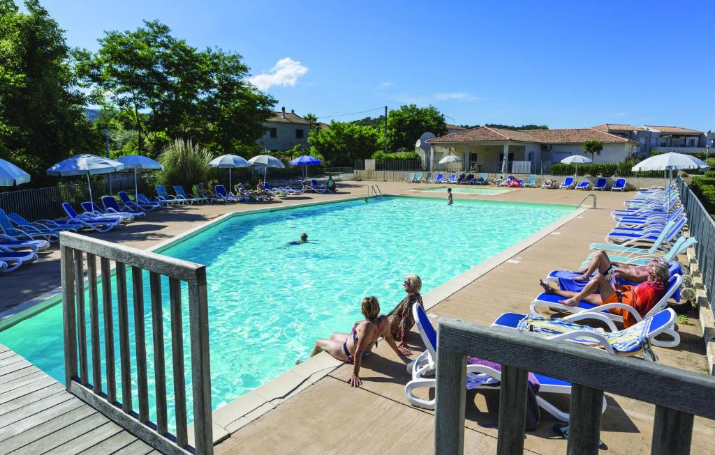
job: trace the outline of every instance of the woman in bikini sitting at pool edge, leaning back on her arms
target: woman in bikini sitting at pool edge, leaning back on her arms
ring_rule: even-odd
[[[365,316],[365,320],[355,322],[352,332],[334,333],[330,338],[318,339],[310,353],[310,357],[313,357],[325,351],[342,362],[352,363],[352,375],[347,379],[352,387],[363,384],[360,379],[360,365],[363,357],[368,357],[373,347],[378,345],[378,338],[385,337],[385,341],[399,356],[412,354],[412,352],[408,354],[405,349],[400,349],[395,344],[395,339],[390,333],[388,317],[380,315],[380,303],[377,297],[365,297],[360,312]]]

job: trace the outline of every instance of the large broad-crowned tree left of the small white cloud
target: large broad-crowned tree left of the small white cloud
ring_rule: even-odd
[[[192,138],[209,150],[233,153],[264,133],[275,99],[247,81],[237,53],[199,51],[158,21],[135,31],[109,31],[97,53],[77,50],[78,71],[98,103],[119,111],[137,131],[142,151],[151,131],[164,143]],[[161,133],[161,134],[160,134]]]

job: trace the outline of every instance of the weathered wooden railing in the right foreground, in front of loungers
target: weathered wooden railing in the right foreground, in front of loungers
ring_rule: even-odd
[[[523,453],[528,372],[573,384],[568,454],[598,454],[603,392],[656,405],[651,454],[689,454],[693,416],[715,419],[715,377],[445,317],[438,334],[435,454],[464,450],[466,355],[502,364],[500,455]]]

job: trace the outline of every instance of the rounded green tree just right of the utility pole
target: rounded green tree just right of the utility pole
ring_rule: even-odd
[[[414,150],[415,142],[428,131],[438,136],[447,133],[445,117],[437,108],[418,108],[416,104],[400,106],[388,114],[388,149]]]

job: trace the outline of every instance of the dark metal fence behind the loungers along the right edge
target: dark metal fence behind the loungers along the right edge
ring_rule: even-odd
[[[695,253],[707,300],[715,311],[715,220],[682,178],[678,178],[680,201],[688,214],[688,229],[698,239]]]

